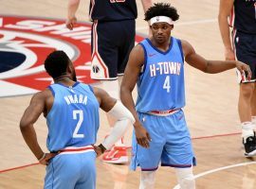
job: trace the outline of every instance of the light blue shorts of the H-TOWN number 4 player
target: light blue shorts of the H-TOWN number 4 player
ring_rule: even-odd
[[[153,171],[162,166],[186,168],[195,165],[192,141],[182,110],[167,116],[138,113],[142,125],[150,133],[149,148],[137,145],[133,133],[130,168]]]

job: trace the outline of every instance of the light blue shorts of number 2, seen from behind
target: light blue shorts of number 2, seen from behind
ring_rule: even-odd
[[[95,189],[96,152],[60,153],[46,166],[45,189]]]

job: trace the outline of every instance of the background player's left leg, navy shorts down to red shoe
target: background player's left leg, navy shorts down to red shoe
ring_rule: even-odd
[[[91,77],[100,79],[96,87],[104,89],[112,97],[119,99],[118,61],[119,41],[121,32],[119,23],[105,22],[94,23],[92,29],[92,71]],[[109,126],[112,128],[116,120],[106,114]],[[128,155],[123,140],[120,139],[111,150],[106,151],[102,156],[106,163],[127,163]]]

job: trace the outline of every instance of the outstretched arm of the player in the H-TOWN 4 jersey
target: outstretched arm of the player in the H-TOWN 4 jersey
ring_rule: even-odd
[[[190,43],[186,41],[181,41],[181,43],[185,60],[190,65],[192,65],[192,67],[197,68],[198,70],[209,74],[216,74],[236,67],[242,75],[244,75],[244,71],[246,71],[248,74],[248,79],[251,77],[251,71],[249,66],[241,61],[206,60],[200,55],[196,54]]]

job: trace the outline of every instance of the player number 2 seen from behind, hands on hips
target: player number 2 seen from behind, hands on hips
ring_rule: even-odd
[[[104,90],[76,81],[75,69],[63,51],[54,51],[45,61],[54,84],[34,94],[20,122],[27,146],[46,164],[45,188],[96,188],[95,158],[119,140],[134,122],[133,115]],[[96,143],[99,108],[118,120],[100,146]],[[48,127],[45,153],[39,146],[34,124],[44,113]],[[96,153],[97,152],[97,153]]]

